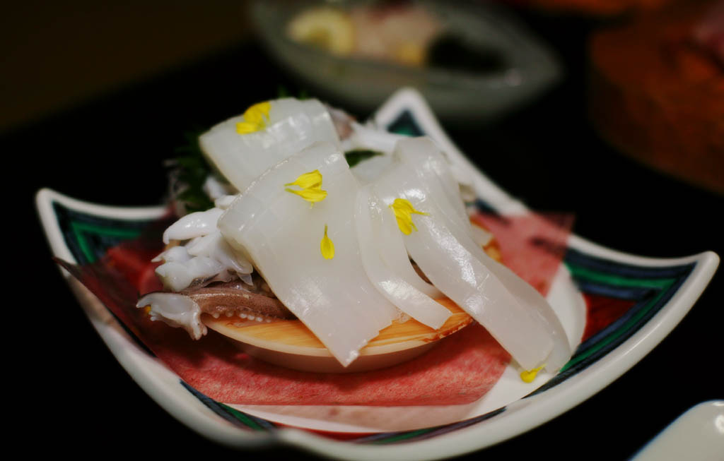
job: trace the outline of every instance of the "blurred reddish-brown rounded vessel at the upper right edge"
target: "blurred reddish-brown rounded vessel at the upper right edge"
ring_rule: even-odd
[[[682,2],[593,33],[589,112],[616,150],[724,195],[724,50],[698,38],[708,30],[724,34],[721,0]]]

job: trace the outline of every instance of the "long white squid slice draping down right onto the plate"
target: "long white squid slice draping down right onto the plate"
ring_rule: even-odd
[[[397,163],[371,184],[387,207],[405,200],[413,230],[404,232],[408,253],[432,283],[500,342],[524,369],[557,371],[571,351],[547,301],[476,244],[450,201],[452,189],[434,143],[397,144]],[[450,177],[450,176],[447,176]],[[402,229],[400,225],[400,229]],[[525,287],[525,288],[524,288]]]

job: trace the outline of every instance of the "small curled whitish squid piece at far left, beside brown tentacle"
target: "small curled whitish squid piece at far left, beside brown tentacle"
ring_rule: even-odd
[[[151,320],[164,322],[169,327],[183,328],[195,340],[206,335],[201,322],[201,308],[193,299],[177,293],[148,293],[138,300],[136,307],[151,306]]]

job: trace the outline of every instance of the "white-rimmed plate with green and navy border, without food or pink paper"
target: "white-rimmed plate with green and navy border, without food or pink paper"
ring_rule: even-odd
[[[469,172],[478,197],[473,207],[500,215],[527,212],[452,144],[415,90],[396,92],[372,121],[392,132],[432,137],[454,165]],[[135,238],[165,212],[164,207],[90,204],[49,189],[39,191],[36,200],[54,256],[77,264],[93,262],[109,247]],[[575,348],[571,361],[558,374],[540,374],[525,384],[509,366],[495,387],[472,404],[394,408],[216,402],[164,366],[97,298],[63,273],[98,334],[135,382],[199,434],[230,447],[276,443],[340,459],[432,460],[521,434],[606,387],[681,321],[718,262],[719,257],[710,251],[651,259],[571,235],[547,295]],[[605,326],[584,337],[586,309],[596,303],[613,310]],[[615,312],[613,318],[611,312]]]

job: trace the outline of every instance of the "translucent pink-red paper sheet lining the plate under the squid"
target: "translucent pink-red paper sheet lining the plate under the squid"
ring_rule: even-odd
[[[473,220],[493,231],[505,264],[546,293],[570,231],[539,215]],[[570,224],[570,220],[568,221]],[[156,226],[159,227],[159,226]],[[156,238],[154,241],[153,239]],[[105,304],[119,322],[198,392],[247,405],[455,405],[478,400],[500,379],[510,355],[478,324],[439,341],[432,350],[387,369],[349,374],[294,371],[238,350],[209,331],[193,341],[182,329],[151,322],[135,303],[159,289],[149,261],[160,251],[154,234],[125,242],[101,261],[60,262]]]

